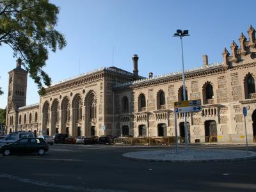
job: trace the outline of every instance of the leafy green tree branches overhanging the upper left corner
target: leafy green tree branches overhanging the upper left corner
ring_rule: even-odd
[[[0,0],[0,45],[12,47],[13,57],[22,59],[41,94],[44,84],[51,84],[51,78],[42,70],[48,49],[56,52],[67,44],[54,29],[59,10],[48,0]]]

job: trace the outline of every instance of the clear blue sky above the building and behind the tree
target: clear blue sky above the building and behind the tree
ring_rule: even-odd
[[[239,45],[241,32],[250,24],[256,28],[255,0],[247,1],[164,1],[164,0],[52,0],[60,6],[57,29],[65,34],[67,47],[49,54],[44,68],[52,83],[114,65],[132,72],[132,55],[139,56],[139,74],[148,76],[180,71],[180,40],[177,29],[188,29],[184,38],[185,68],[222,61],[224,47],[232,40]],[[7,104],[8,72],[15,68],[12,50],[0,47],[0,108]],[[80,65],[79,65],[80,63]],[[79,67],[80,66],[80,67]],[[29,78],[27,104],[39,102],[37,88]]]

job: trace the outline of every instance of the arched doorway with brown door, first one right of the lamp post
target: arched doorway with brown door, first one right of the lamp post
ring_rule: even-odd
[[[218,142],[216,121],[205,121],[205,142]]]

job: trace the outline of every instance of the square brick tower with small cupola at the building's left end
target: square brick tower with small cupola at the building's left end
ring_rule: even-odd
[[[21,62],[18,59],[16,68],[9,72],[8,110],[11,106],[14,109],[13,105],[16,109],[26,106],[28,72],[21,68]]]

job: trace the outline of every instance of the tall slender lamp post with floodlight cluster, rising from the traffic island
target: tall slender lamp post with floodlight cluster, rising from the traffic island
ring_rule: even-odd
[[[181,57],[182,57],[182,83],[183,83],[183,100],[186,100],[186,87],[185,87],[185,74],[184,74],[184,58],[183,58],[183,45],[182,45],[182,37],[183,36],[189,36],[188,30],[180,30],[177,29],[177,33],[174,33],[173,36],[179,36],[180,37],[180,43],[181,43]],[[185,131],[185,150],[188,149],[188,126],[187,126],[187,114],[184,113],[184,131]]]

